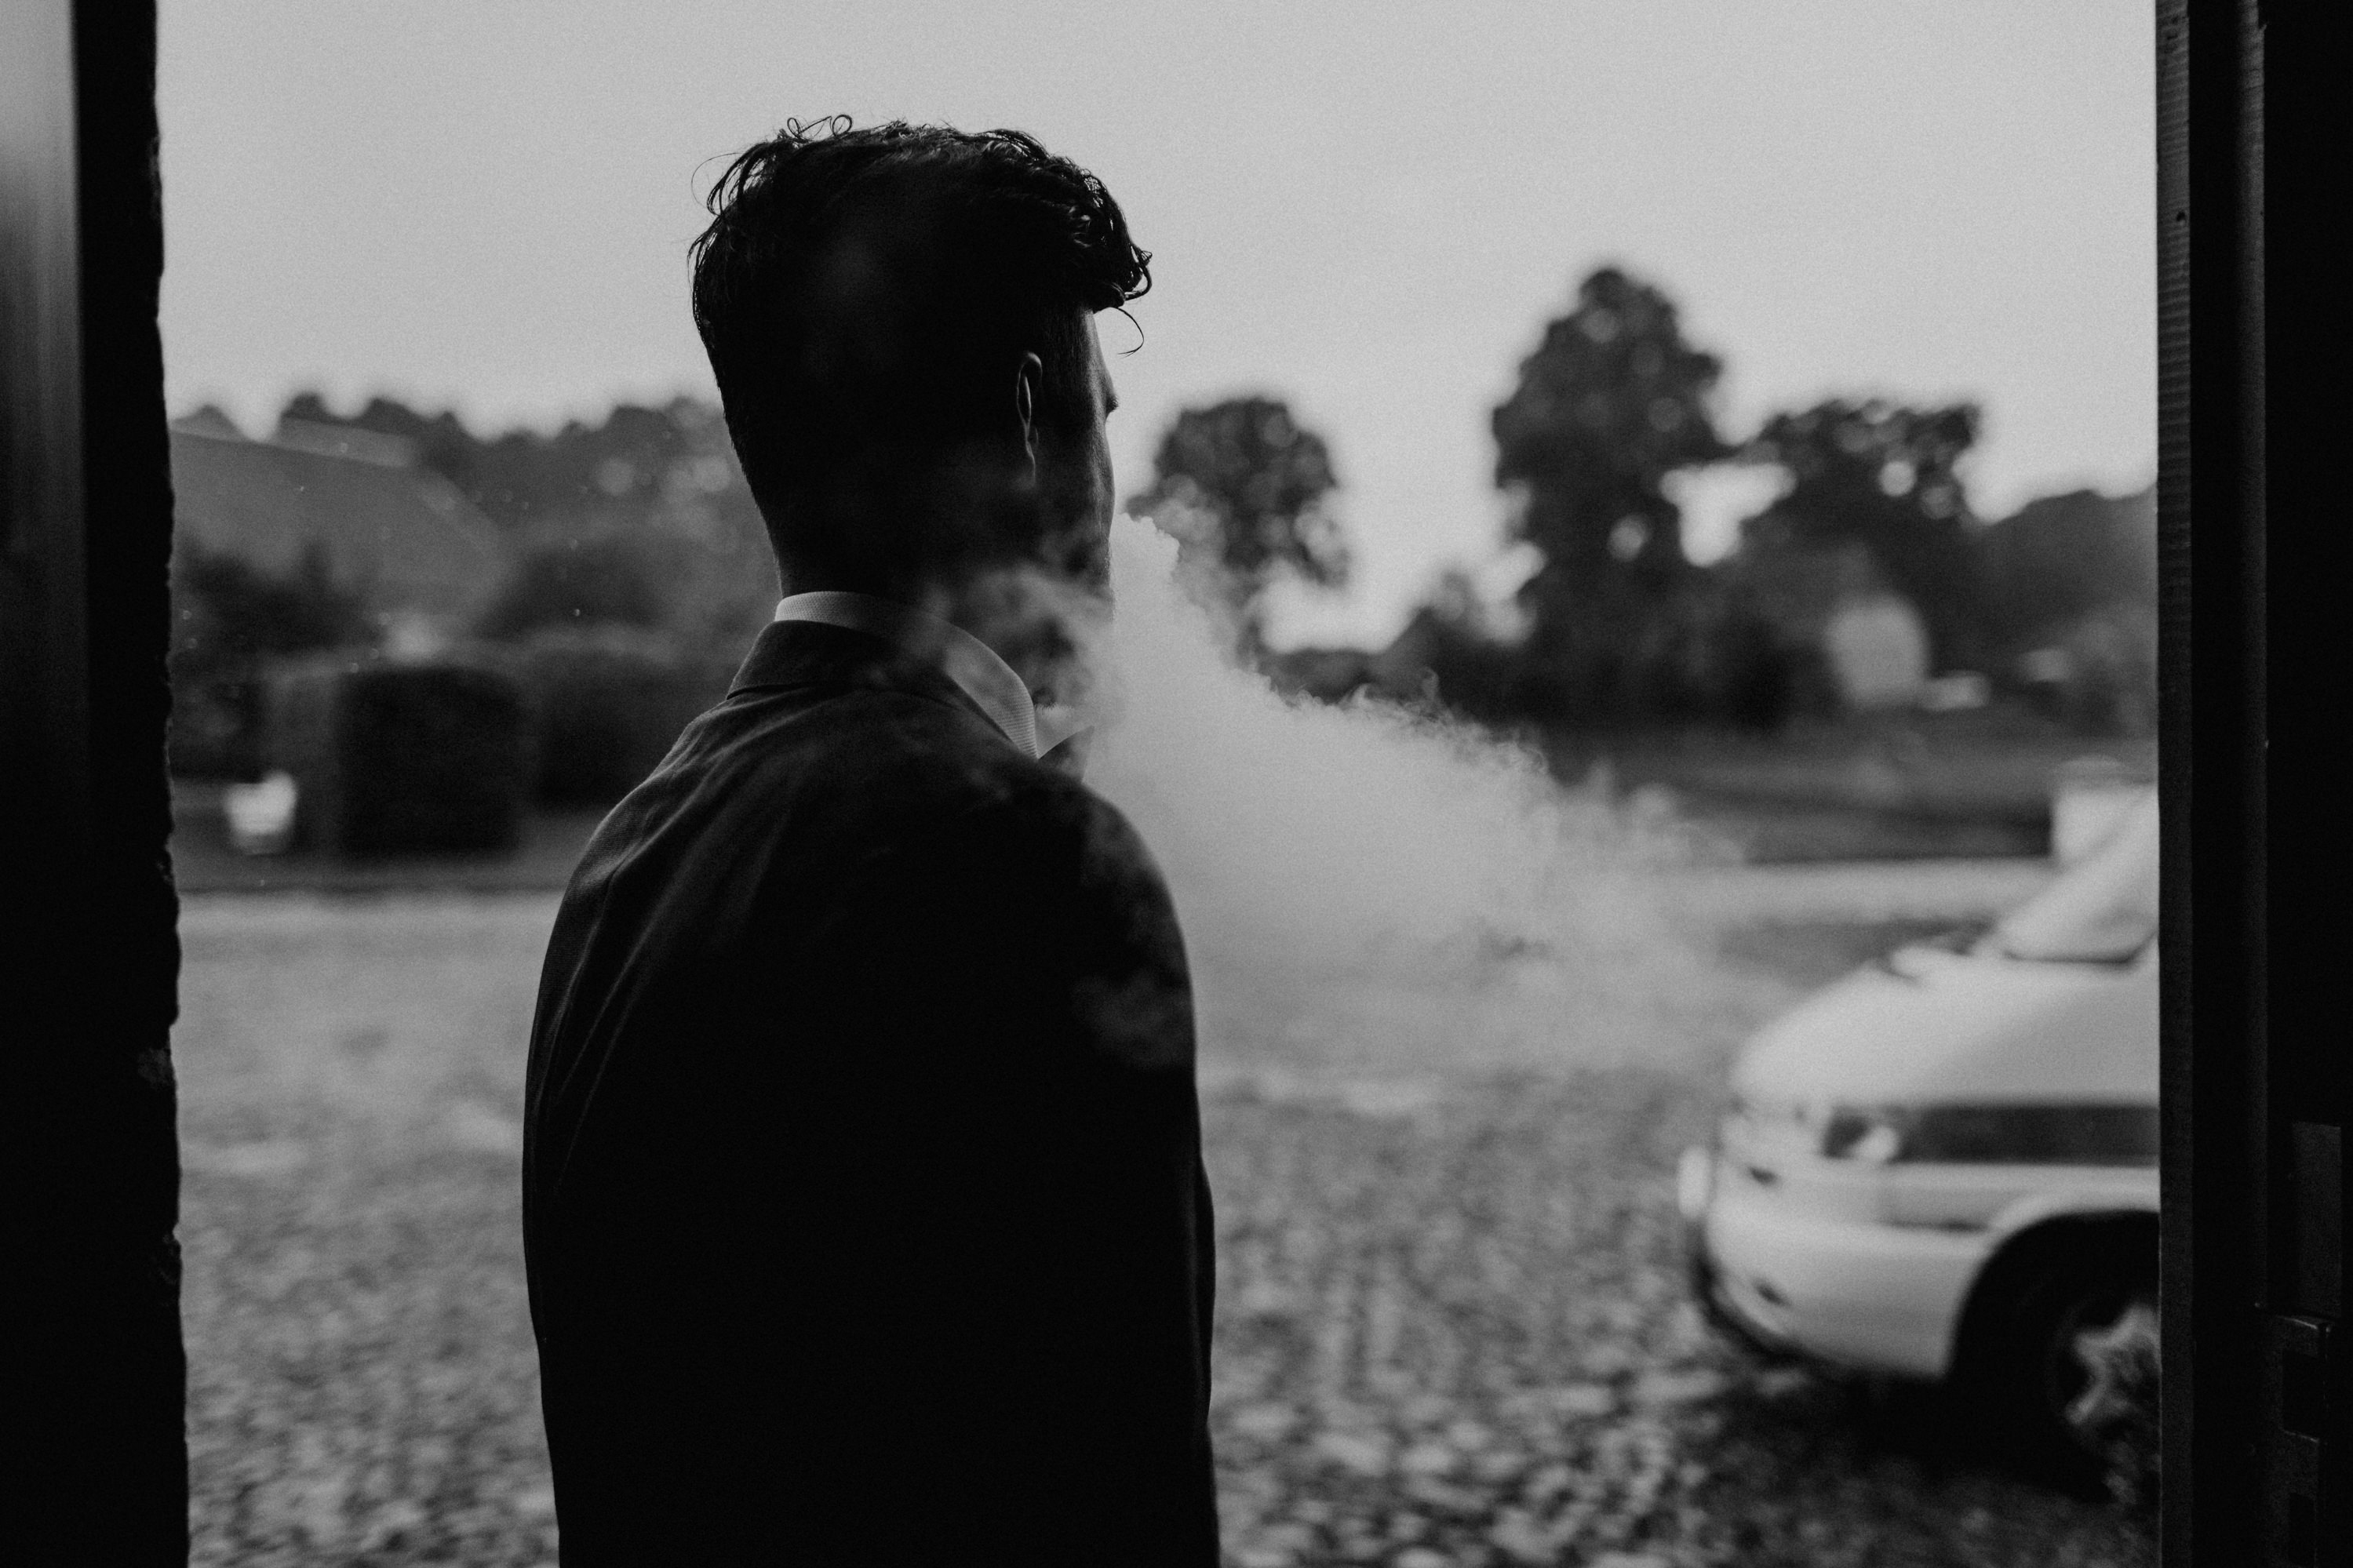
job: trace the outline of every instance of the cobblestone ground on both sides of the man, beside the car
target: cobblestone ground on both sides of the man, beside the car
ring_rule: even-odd
[[[544,931],[536,898],[191,910],[198,1563],[555,1559],[515,1220]],[[1948,1453],[1934,1406],[1701,1331],[1668,1171],[1711,1098],[1209,1091],[1228,1561],[2153,1561],[2146,1514]]]

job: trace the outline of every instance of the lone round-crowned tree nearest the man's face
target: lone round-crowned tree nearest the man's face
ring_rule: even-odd
[[[1176,569],[1240,656],[1266,654],[1266,588],[1294,576],[1348,581],[1348,545],[1327,501],[1339,480],[1322,437],[1280,397],[1186,409],[1160,437],[1153,487],[1127,508],[1176,538]]]

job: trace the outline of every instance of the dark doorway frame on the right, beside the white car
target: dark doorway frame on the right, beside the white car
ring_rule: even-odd
[[[2353,14],[2158,5],[2165,1561],[2346,1563]],[[2278,498],[2278,508],[2273,508]],[[2273,510],[2278,524],[2273,527]],[[2278,849],[2280,853],[2271,853]]]

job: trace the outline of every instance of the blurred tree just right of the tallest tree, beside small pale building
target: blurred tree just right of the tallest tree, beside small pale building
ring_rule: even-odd
[[[1880,397],[1774,414],[1748,444],[1779,463],[1788,491],[1741,524],[1741,555],[1861,545],[1927,625],[1937,670],[1981,670],[1986,595],[1969,501],[1955,473],[1979,409],[1913,409]]]

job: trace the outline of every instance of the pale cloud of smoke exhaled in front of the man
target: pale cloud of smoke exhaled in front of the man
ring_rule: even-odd
[[[1120,520],[1087,780],[1169,877],[1205,1063],[1689,1060],[1725,997],[1671,919],[1671,832],[1471,729],[1280,698],[1174,567]]]

